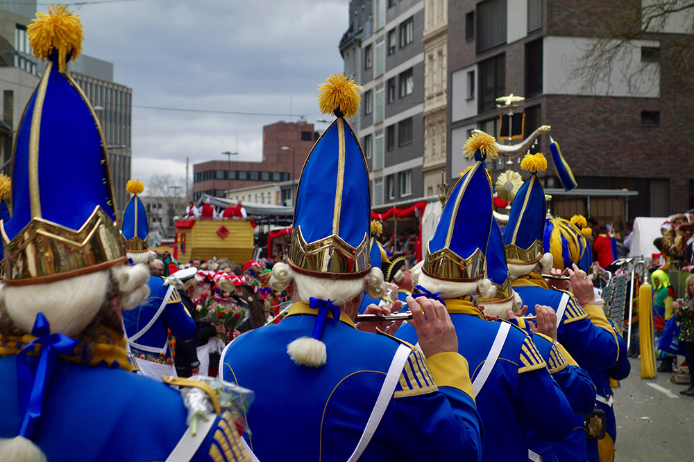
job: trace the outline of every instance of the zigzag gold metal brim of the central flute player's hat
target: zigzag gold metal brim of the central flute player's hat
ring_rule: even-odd
[[[371,271],[369,263],[369,235],[352,247],[339,236],[307,243],[301,226],[291,233],[289,266],[296,271],[319,278],[346,279],[365,276]]]

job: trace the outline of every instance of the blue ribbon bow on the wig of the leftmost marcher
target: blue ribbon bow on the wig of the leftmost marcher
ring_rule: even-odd
[[[17,354],[17,389],[23,414],[19,436],[30,440],[43,410],[44,393],[53,377],[58,355],[71,355],[78,344],[78,341],[67,335],[51,334],[48,320],[43,313],[36,315],[31,335],[37,338]],[[33,368],[29,364],[27,354],[33,350],[35,344],[40,345],[41,350],[38,363]]]

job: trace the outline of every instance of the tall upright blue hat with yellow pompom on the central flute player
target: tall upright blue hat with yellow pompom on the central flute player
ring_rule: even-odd
[[[357,114],[361,89],[341,73],[319,87],[321,111],[337,119],[316,141],[296,187],[288,263],[303,274],[355,278],[371,270],[369,170],[345,120]]]

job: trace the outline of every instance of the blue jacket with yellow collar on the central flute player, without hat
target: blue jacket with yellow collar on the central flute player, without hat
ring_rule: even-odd
[[[226,348],[224,380],[255,391],[248,443],[260,461],[346,461],[355,450],[400,341],[329,315],[324,366],[298,366],[287,344],[310,336],[316,310],[294,303],[279,324],[245,332]],[[359,461],[478,461],[480,416],[467,363],[413,350]]]

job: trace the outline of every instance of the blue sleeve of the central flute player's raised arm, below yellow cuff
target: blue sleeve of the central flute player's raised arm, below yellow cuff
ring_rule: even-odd
[[[391,400],[388,428],[391,444],[407,460],[480,461],[482,458],[482,419],[475,401],[454,387]]]

